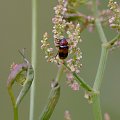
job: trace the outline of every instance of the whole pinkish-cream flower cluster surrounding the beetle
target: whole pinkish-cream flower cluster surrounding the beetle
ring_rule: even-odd
[[[82,52],[80,48],[77,46],[79,42],[81,42],[80,38],[80,25],[72,22],[68,22],[64,15],[67,11],[68,1],[59,0],[59,4],[54,7],[55,16],[52,18],[53,22],[53,39],[56,50],[59,54],[60,40],[66,39],[68,42],[68,58],[66,59],[67,67],[70,68],[71,72],[79,73],[79,68],[81,67],[81,58]],[[43,35],[43,39],[41,40],[42,50],[45,52],[45,58],[48,62],[54,62],[58,65],[63,64],[64,60],[59,58],[58,54],[55,54],[53,48],[50,47],[48,42],[48,34],[45,33]],[[67,70],[66,70],[67,71]],[[67,71],[68,72],[68,71]],[[74,81],[74,80],[73,80]],[[77,86],[76,82],[71,84],[72,89]]]

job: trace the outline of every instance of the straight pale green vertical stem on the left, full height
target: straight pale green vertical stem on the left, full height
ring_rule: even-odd
[[[29,120],[34,120],[35,109],[35,87],[36,87],[36,67],[37,67],[37,0],[32,0],[32,66],[34,69],[34,80],[30,93],[30,114]]]

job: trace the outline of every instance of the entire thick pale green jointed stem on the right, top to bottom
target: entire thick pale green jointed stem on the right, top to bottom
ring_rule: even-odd
[[[102,79],[103,79],[103,75],[104,75],[104,71],[105,71],[107,55],[108,55],[108,48],[105,46],[106,43],[107,43],[107,38],[104,34],[104,31],[103,31],[103,28],[102,28],[102,25],[100,23],[99,16],[98,16],[99,13],[98,13],[98,8],[97,8],[97,3],[96,3],[97,0],[92,0],[92,1],[93,1],[93,13],[94,13],[94,16],[95,16],[95,24],[96,24],[97,31],[98,31],[99,36],[100,36],[100,40],[103,43],[100,62],[99,62],[95,82],[94,82],[94,85],[93,85],[93,90],[96,93],[99,93],[101,83],[102,83]],[[95,120],[102,120],[99,94],[95,94],[94,97],[93,97],[93,112],[94,112]]]

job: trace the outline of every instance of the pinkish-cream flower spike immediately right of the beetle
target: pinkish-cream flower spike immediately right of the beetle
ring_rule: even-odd
[[[82,58],[82,52],[77,44],[81,42],[80,39],[80,25],[76,26],[72,23],[68,23],[69,29],[67,30],[68,42],[69,42],[69,54],[72,55],[72,58],[67,60],[67,65],[72,72],[79,73],[79,68],[81,67],[80,60]]]

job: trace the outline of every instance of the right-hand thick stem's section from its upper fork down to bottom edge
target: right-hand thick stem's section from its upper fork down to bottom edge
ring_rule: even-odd
[[[93,90],[97,93],[99,93],[101,83],[103,80],[107,56],[108,56],[108,49],[106,46],[103,45],[101,51],[100,63],[98,66],[98,71],[93,86]],[[99,94],[95,94],[93,97],[93,112],[94,112],[95,120],[102,120]]]

